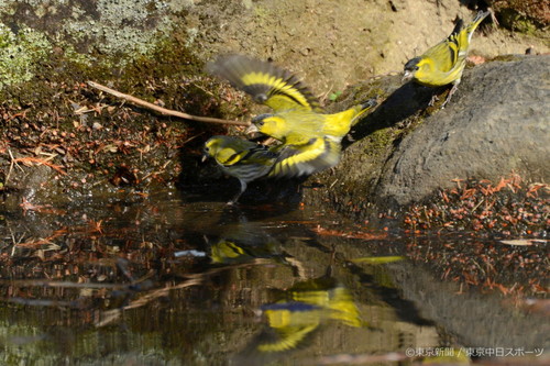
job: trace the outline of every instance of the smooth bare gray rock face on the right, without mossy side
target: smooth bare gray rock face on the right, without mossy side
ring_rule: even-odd
[[[512,170],[550,178],[550,56],[494,62],[464,73],[450,104],[406,136],[377,195],[418,201],[452,179],[498,179]]]

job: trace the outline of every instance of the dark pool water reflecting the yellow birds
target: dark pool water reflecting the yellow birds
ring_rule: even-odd
[[[549,343],[547,317],[410,262],[418,239],[315,208],[160,195],[2,221],[7,365],[393,364]]]

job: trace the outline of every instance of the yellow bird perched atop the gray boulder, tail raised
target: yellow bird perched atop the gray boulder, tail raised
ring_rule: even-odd
[[[428,87],[442,87],[452,84],[452,89],[441,106],[441,108],[444,108],[460,84],[466,65],[468,48],[472,35],[477,25],[488,14],[488,11],[480,11],[465,27],[463,27],[463,22],[460,20],[446,40],[426,51],[421,56],[411,58],[405,64],[403,80],[413,79]]]

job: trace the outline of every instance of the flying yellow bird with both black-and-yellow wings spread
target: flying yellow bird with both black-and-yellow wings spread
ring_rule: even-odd
[[[310,175],[340,160],[340,142],[353,124],[376,104],[370,100],[345,111],[323,113],[317,98],[289,71],[272,63],[241,55],[221,56],[208,70],[273,109],[253,119],[249,131],[258,131],[282,142],[272,177]]]

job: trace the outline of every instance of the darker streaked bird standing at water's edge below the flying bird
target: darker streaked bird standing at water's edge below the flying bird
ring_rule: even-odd
[[[241,190],[228,203],[234,203],[246,190],[250,181],[267,175],[278,154],[267,146],[234,136],[212,136],[204,148],[202,160],[212,157],[223,173],[241,182]]]

